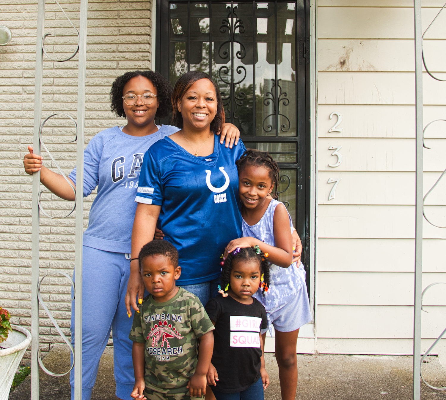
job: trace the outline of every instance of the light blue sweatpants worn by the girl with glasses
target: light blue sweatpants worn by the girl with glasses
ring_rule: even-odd
[[[130,260],[124,253],[112,253],[83,246],[82,267],[82,400],[90,400],[99,360],[113,334],[116,396],[132,400],[132,344],[124,298],[130,275]],[[133,311],[134,312],[134,311]],[[71,304],[71,343],[74,346],[74,301]],[[70,373],[74,399],[74,369]]]

